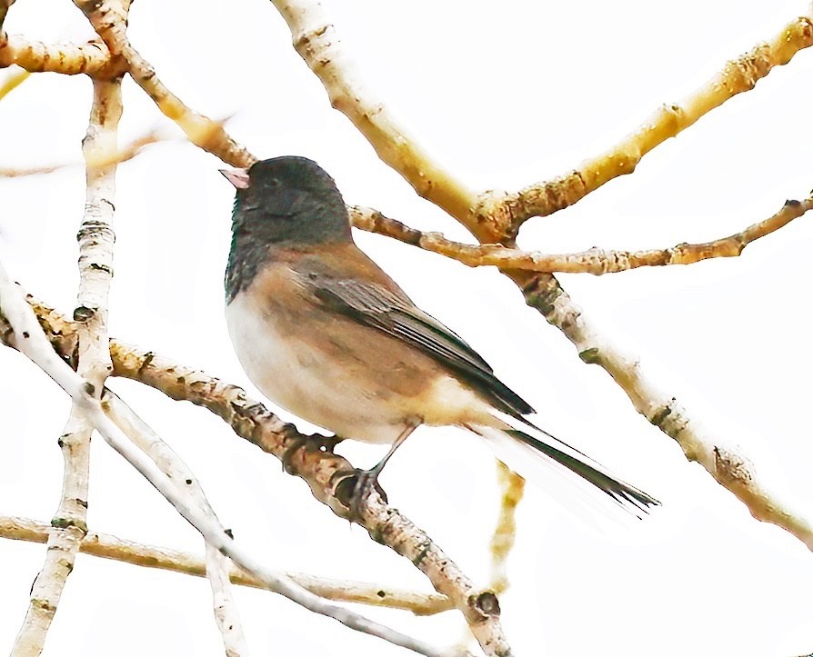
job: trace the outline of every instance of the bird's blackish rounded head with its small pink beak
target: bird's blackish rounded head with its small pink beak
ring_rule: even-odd
[[[221,173],[236,187],[235,234],[294,248],[351,239],[342,194],[316,162],[275,157]]]

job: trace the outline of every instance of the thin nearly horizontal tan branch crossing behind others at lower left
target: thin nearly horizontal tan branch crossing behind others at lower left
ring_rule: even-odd
[[[45,543],[53,532],[54,529],[45,523],[38,523],[27,518],[0,516],[0,538]],[[82,540],[79,552],[146,568],[159,568],[196,577],[206,577],[206,562],[202,557],[189,552],[127,541],[107,533],[89,531]],[[228,575],[229,580],[238,586],[269,590],[265,582],[235,565],[231,566]],[[437,593],[392,589],[368,582],[331,580],[303,572],[287,572],[286,576],[314,595],[336,602],[358,602],[375,607],[400,609],[412,612],[417,616],[430,616],[455,608],[445,595]]]

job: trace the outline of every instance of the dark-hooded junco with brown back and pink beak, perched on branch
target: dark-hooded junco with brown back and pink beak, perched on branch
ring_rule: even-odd
[[[237,357],[288,411],[392,443],[366,483],[417,426],[452,424],[544,455],[630,509],[658,503],[529,423],[531,406],[356,247],[318,164],[276,157],[222,173],[236,187],[226,321]]]

